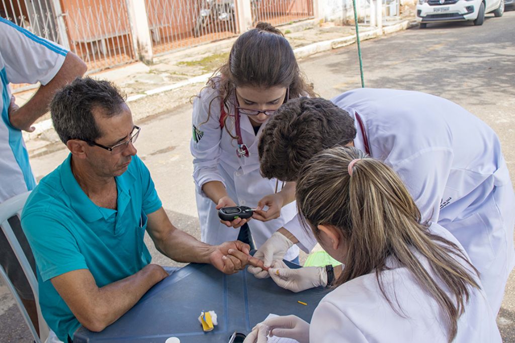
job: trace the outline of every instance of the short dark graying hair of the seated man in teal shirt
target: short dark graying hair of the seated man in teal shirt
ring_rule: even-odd
[[[93,142],[102,136],[93,109],[110,117],[121,112],[125,95],[112,83],[91,78],[77,78],[64,86],[50,103],[54,128],[63,143],[70,139]]]

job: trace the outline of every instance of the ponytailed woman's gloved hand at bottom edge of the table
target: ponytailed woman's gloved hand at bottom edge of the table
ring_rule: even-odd
[[[252,329],[244,343],[266,343],[270,336],[293,338],[299,343],[310,343],[310,324],[297,316],[280,316],[267,319]]]

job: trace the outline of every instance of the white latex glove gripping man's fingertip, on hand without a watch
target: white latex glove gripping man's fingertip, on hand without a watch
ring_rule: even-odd
[[[273,261],[282,261],[286,251],[288,251],[291,246],[293,246],[293,242],[286,238],[281,232],[276,231],[266,240],[265,244],[255,252],[254,257],[262,260],[265,267],[270,267]],[[258,279],[265,279],[270,276],[266,270],[260,267],[249,265],[247,270]]]

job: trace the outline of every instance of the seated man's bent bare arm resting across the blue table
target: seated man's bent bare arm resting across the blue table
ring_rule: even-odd
[[[88,269],[73,270],[50,280],[82,326],[98,332],[121,317],[150,287],[167,276],[161,266],[148,264],[138,273],[100,288]]]

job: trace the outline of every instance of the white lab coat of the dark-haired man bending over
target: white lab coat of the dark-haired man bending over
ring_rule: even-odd
[[[496,315],[515,263],[515,196],[493,130],[457,104],[419,92],[362,88],[332,101],[354,119],[358,113],[370,155],[397,171],[423,220],[438,222],[464,246]],[[354,121],[354,146],[365,151]],[[285,228],[311,249],[313,237],[295,222]]]

